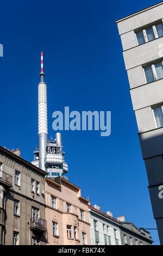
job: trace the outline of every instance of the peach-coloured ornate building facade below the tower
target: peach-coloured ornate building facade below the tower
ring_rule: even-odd
[[[47,245],[91,245],[89,202],[60,176],[45,179]]]

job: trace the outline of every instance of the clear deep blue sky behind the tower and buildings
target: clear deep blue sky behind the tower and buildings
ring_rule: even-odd
[[[37,139],[37,84],[43,51],[52,113],[111,111],[111,136],[63,131],[69,180],[91,204],[124,215],[137,227],[155,228],[122,46],[115,21],[158,1],[0,1],[0,144],[33,160]],[[152,231],[155,244],[159,243]]]

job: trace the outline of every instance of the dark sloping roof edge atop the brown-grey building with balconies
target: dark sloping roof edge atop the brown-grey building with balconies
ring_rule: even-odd
[[[34,166],[34,164],[28,162],[28,161],[25,160],[25,159],[22,159],[22,157],[17,156],[16,154],[12,153],[12,152],[11,152],[10,150],[8,150],[8,149],[5,149],[5,148],[3,148],[3,147],[0,146],[0,152],[3,152],[4,154],[7,154],[8,156],[14,158],[15,160],[20,161],[20,162],[22,162],[23,164],[26,164],[26,166],[28,166],[29,168],[34,169],[36,172],[39,172],[39,173],[41,173],[41,174],[43,174],[43,175],[46,175],[46,174],[47,174],[44,170],[40,169],[39,167]]]

